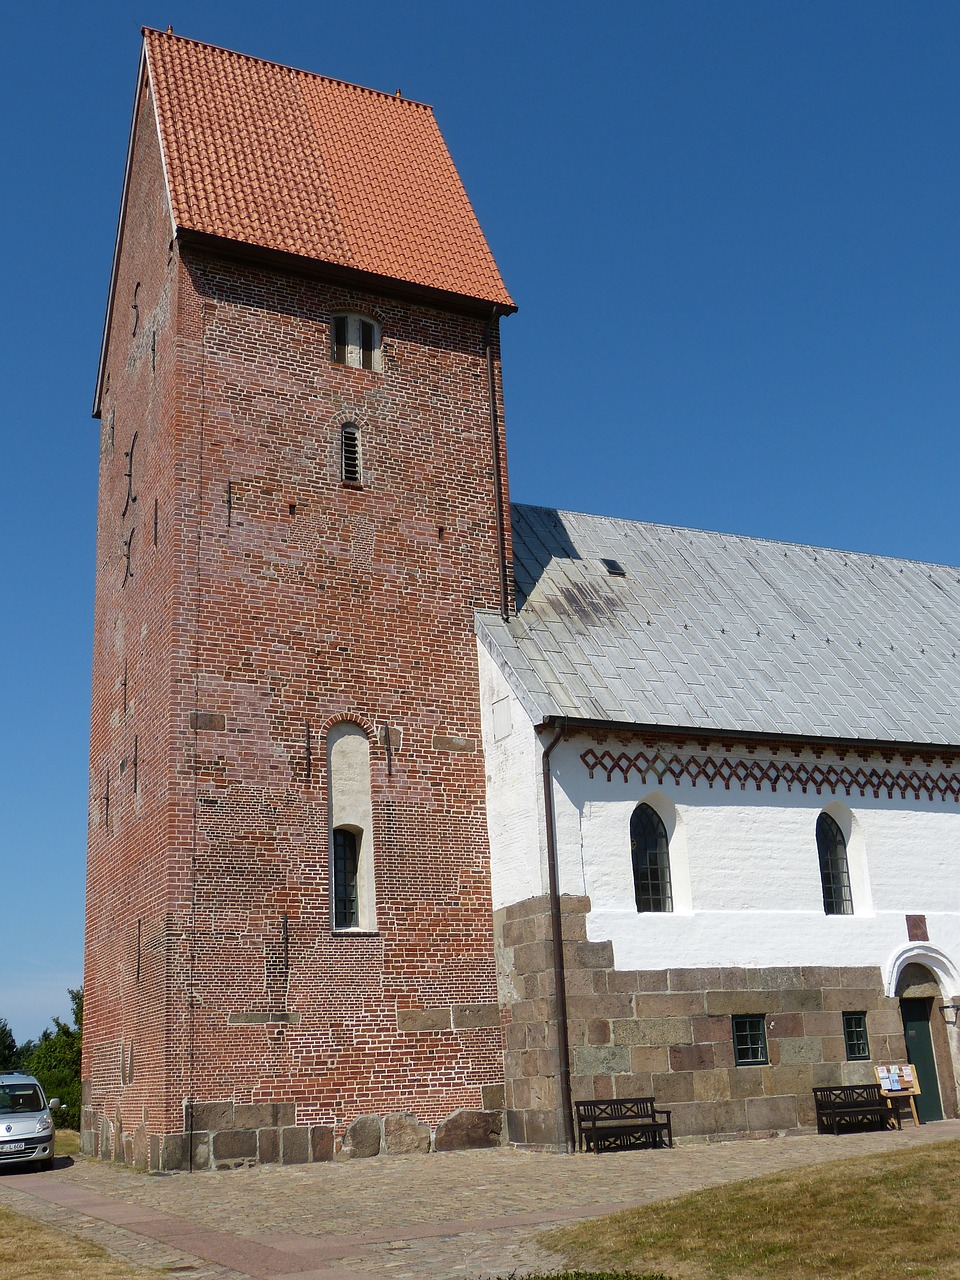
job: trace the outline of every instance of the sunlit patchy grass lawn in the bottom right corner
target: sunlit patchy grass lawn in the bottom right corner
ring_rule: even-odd
[[[960,1280],[960,1142],[717,1187],[541,1236],[671,1280]]]

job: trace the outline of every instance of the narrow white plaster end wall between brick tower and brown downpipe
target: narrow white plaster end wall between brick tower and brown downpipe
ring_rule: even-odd
[[[540,744],[530,717],[477,645],[494,910],[547,892]]]

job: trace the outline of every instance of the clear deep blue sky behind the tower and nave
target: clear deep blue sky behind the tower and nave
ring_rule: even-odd
[[[140,26],[431,102],[520,314],[515,499],[960,561],[960,5],[5,15],[0,1016],[82,978],[97,429]]]

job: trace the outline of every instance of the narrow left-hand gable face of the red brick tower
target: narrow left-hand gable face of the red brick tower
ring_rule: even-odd
[[[172,431],[179,268],[170,252],[173,233],[146,96],[138,119],[101,417],[83,1075],[99,1115],[113,1120],[123,1101],[128,1115],[140,1120],[146,1107],[159,1121],[178,1105],[164,1028],[173,767],[169,640],[182,590],[184,536]],[[123,1085],[131,1074],[131,1044],[133,1083]]]

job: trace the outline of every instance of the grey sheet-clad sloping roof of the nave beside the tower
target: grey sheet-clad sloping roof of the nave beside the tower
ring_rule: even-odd
[[[512,517],[518,614],[476,627],[535,723],[960,745],[960,570],[547,507]]]

